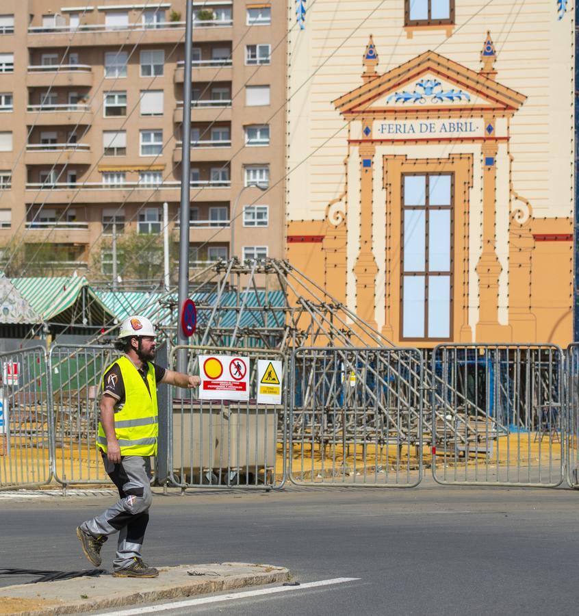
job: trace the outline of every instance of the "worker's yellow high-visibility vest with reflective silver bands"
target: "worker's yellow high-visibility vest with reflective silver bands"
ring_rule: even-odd
[[[156,456],[159,424],[157,423],[155,368],[152,363],[147,362],[146,381],[149,383],[149,392],[151,392],[149,394],[136,366],[124,355],[114,361],[105,370],[105,374],[115,363],[120,368],[120,374],[125,383],[125,405],[120,411],[114,413],[114,431],[120,446],[120,454],[122,456]],[[107,451],[107,437],[101,422],[99,422],[97,446],[104,452]]]

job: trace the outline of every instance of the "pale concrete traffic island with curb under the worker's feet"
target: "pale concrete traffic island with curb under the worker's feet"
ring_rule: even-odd
[[[160,567],[150,579],[74,578],[0,589],[0,614],[41,616],[101,611],[285,582],[289,571],[273,565],[221,563]]]

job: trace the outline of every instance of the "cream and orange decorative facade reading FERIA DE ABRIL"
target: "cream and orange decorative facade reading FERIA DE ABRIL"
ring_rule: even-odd
[[[316,5],[290,41],[289,260],[395,344],[566,345],[569,3],[423,3]]]

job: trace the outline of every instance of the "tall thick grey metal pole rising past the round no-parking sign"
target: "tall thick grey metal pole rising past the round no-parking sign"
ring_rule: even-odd
[[[181,326],[181,310],[189,295],[189,211],[191,175],[191,62],[193,53],[193,1],[187,0],[185,18],[185,72],[183,74],[183,130],[181,157],[181,211],[179,216],[179,294],[177,306],[177,344],[187,344]],[[177,354],[177,371],[187,371],[187,354]]]

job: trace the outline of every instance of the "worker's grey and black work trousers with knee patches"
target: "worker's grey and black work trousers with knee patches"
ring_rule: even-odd
[[[94,537],[118,532],[115,571],[125,569],[133,558],[141,558],[146,525],[149,523],[151,493],[151,459],[142,456],[123,456],[115,464],[103,454],[105,471],[118,489],[120,499],[101,515],[81,524],[82,530]]]

